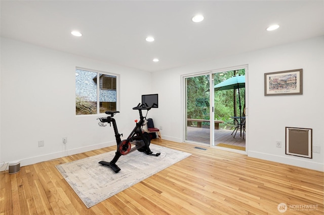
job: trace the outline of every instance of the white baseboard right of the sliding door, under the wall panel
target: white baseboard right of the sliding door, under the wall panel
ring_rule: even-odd
[[[298,159],[295,157],[277,156],[277,155],[261,153],[257,151],[248,151],[248,156],[263,159],[263,160],[270,160],[272,162],[277,162],[281,164],[287,164],[296,167],[302,167],[310,170],[317,170],[317,171],[324,172],[324,164],[312,162],[312,160],[308,160],[309,158]]]

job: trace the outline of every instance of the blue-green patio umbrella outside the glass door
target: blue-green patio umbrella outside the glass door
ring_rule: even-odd
[[[219,84],[214,86],[215,91],[218,90],[229,90],[229,89],[238,89],[238,101],[239,101],[239,116],[242,116],[241,111],[241,99],[239,96],[239,88],[245,87],[245,75],[233,76],[225,81],[222,81]]]

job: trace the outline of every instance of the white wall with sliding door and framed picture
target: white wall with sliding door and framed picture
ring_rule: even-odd
[[[162,126],[164,139],[183,141],[181,75],[248,64],[248,155],[324,171],[324,36],[252,51],[214,61],[153,73],[153,91],[159,93],[154,126]],[[303,94],[264,96],[264,73],[303,69]],[[313,158],[285,154],[285,127],[312,128]],[[282,141],[282,147],[275,141]]]

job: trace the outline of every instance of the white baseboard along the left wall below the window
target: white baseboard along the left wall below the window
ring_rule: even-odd
[[[104,148],[104,147],[109,147],[109,146],[113,146],[115,144],[116,144],[115,141],[111,141],[111,142],[99,143],[99,144],[89,145],[89,146],[80,147],[80,148],[72,148],[72,149],[68,149],[68,150],[64,150],[64,151],[39,155],[39,156],[35,156],[35,157],[28,157],[25,159],[21,159],[20,167],[36,164],[39,162],[45,162],[47,160],[57,159],[60,157],[65,157],[65,156],[69,156],[69,155],[73,155],[73,154],[83,153],[86,151],[92,151],[92,150],[96,150],[96,149],[100,149],[100,148]]]

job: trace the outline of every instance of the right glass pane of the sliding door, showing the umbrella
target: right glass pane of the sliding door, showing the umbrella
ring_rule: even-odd
[[[219,126],[214,130],[213,145],[245,147],[245,84],[235,77],[244,76],[245,69],[215,73],[214,120]],[[229,81],[231,80],[231,81]],[[243,82],[245,83],[245,81]]]

